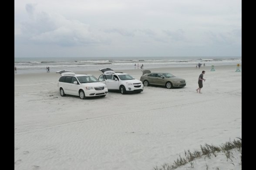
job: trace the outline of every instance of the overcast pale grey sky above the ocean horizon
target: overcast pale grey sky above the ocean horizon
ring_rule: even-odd
[[[14,57],[242,56],[241,0],[14,0]]]

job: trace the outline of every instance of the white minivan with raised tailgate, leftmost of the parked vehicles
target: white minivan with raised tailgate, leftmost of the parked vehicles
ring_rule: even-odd
[[[61,70],[56,73],[61,74],[58,82],[61,96],[76,95],[85,99],[94,96],[105,97],[108,94],[107,86],[93,75],[75,74],[70,70]]]

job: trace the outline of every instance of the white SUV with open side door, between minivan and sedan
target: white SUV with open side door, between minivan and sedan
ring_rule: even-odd
[[[99,76],[99,81],[107,85],[108,90],[119,90],[121,94],[127,92],[143,92],[141,81],[123,72],[114,72],[112,69],[100,69],[103,75]]]

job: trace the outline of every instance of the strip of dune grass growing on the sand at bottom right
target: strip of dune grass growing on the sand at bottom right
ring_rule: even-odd
[[[213,144],[205,144],[204,146],[200,145],[201,150],[194,150],[191,152],[190,150],[184,150],[185,152],[185,157],[179,157],[177,160],[174,161],[172,164],[164,163],[162,167],[154,167],[154,170],[175,170],[180,166],[183,166],[187,163],[190,164],[190,166],[193,168],[194,167],[194,162],[193,160],[201,158],[201,157],[217,157],[218,153],[223,152],[226,155],[227,161],[232,160],[232,149],[237,149],[239,153],[241,153],[241,162],[240,164],[242,165],[242,138],[241,137],[236,137],[237,140],[233,141],[228,141],[225,144],[222,144],[220,146],[214,146]],[[206,163],[206,169],[208,169],[208,165]],[[216,169],[219,169],[219,167],[216,167]]]

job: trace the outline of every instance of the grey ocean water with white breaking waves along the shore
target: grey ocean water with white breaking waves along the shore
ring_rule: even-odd
[[[46,67],[50,67],[50,72],[59,70],[89,71],[102,68],[113,70],[136,69],[137,65],[143,64],[144,69],[160,67],[195,67],[196,64],[205,63],[210,65],[236,65],[242,64],[242,57],[93,57],[93,58],[14,58],[14,66],[17,73],[38,73],[46,72]],[[241,67],[241,66],[240,66]]]

